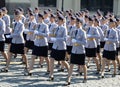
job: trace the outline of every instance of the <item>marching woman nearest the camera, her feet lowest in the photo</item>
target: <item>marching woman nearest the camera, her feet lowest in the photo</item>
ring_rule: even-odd
[[[87,67],[85,65],[85,45],[87,42],[86,32],[82,29],[82,21],[77,18],[76,20],[76,27],[77,29],[73,33],[73,48],[71,53],[71,59],[70,59],[70,69],[69,74],[67,78],[67,84],[70,85],[71,82],[71,76],[73,72],[73,66],[75,64],[80,65],[81,68],[84,70],[84,80],[83,83],[87,81]]]

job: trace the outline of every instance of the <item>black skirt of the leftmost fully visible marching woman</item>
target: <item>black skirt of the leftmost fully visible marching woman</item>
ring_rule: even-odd
[[[24,44],[11,43],[10,52],[14,54],[24,54]]]

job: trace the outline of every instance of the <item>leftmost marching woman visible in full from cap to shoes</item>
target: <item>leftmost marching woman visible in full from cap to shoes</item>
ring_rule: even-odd
[[[27,65],[27,58],[24,54],[24,38],[23,38],[23,31],[24,31],[24,24],[20,21],[21,20],[21,13],[19,10],[16,10],[14,13],[15,17],[15,23],[14,23],[14,28],[12,34],[7,37],[12,38],[11,46],[10,46],[10,52],[8,54],[8,59],[7,59],[7,65],[5,68],[1,69],[1,72],[8,72],[8,68],[10,65],[10,60],[12,57],[12,54],[21,54],[22,57],[25,60],[26,67]]]

